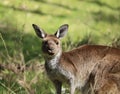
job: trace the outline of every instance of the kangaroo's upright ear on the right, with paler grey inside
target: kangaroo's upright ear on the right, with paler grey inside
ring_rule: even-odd
[[[67,31],[68,31],[68,24],[64,24],[62,26],[59,27],[59,29],[57,30],[57,32],[55,33],[55,36],[57,38],[62,38],[66,35]]]

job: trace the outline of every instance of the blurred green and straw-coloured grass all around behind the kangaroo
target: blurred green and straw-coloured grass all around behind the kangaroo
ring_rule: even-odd
[[[0,94],[54,94],[33,23],[47,33],[69,24],[65,51],[83,44],[120,48],[120,0],[1,0]]]

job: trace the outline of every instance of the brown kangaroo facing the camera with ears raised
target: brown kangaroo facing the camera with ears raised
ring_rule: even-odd
[[[83,45],[63,52],[60,40],[66,35],[68,24],[60,26],[53,35],[32,26],[42,39],[45,69],[56,94],[62,93],[63,83],[70,86],[70,94],[75,94],[76,89],[82,94],[120,94],[120,49]]]

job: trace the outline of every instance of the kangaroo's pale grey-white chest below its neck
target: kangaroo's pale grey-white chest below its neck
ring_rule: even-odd
[[[46,61],[45,68],[51,80],[68,81],[71,73],[65,71],[56,60]]]

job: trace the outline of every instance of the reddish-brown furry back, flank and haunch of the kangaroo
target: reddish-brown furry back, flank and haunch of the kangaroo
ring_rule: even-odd
[[[85,45],[63,52],[61,59],[64,59],[60,62],[64,69],[83,74],[83,81],[90,81],[90,75],[94,75],[91,82],[97,94],[120,93],[120,49]]]

